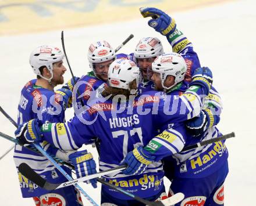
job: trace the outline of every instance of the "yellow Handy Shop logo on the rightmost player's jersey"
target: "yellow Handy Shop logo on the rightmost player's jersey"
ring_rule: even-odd
[[[227,152],[225,144],[222,144],[221,141],[215,142],[212,147],[210,147],[211,150],[208,151],[208,153],[205,153],[204,156],[198,156],[197,158],[193,158],[190,160],[191,168],[195,169],[197,167],[201,167],[202,165],[207,164],[207,162],[211,161],[213,158],[215,158],[214,163],[218,159],[217,157],[221,157],[224,152]],[[213,163],[213,164],[214,164]],[[207,165],[211,167],[211,164]],[[208,167],[207,167],[208,168]],[[205,168],[205,169],[207,169]]]

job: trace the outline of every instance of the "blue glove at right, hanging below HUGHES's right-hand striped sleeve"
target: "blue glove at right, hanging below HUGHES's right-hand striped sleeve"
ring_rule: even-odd
[[[187,130],[192,136],[200,136],[208,128],[219,123],[219,115],[212,114],[210,109],[202,110],[198,117],[194,117],[186,122]]]

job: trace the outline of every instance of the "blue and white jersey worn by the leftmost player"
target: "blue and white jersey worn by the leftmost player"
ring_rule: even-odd
[[[27,82],[22,89],[18,106],[17,124],[22,124],[34,118],[38,118],[42,122],[64,122],[65,114],[62,96],[54,91],[36,86],[35,82],[36,79]],[[58,150],[45,141],[40,144],[48,153],[55,155]],[[50,182],[61,183],[66,180],[47,158],[25,147],[16,145],[13,158],[16,168],[19,167],[22,162],[26,162],[35,172]],[[63,168],[66,172],[71,174],[70,169],[66,167]],[[49,193],[48,190],[41,189],[41,187],[38,187],[24,177],[19,171],[18,176],[23,197],[39,197],[42,194]]]

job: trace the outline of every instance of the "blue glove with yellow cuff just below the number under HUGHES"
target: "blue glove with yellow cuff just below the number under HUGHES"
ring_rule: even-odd
[[[126,175],[140,175],[154,160],[155,157],[150,152],[145,151],[143,147],[137,147],[130,151],[125,160],[121,162],[121,164],[127,164],[127,168],[122,172]]]

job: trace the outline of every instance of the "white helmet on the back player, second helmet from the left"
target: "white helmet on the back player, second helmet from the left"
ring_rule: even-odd
[[[106,62],[116,58],[115,50],[107,41],[97,41],[89,46],[88,61],[91,70],[94,71],[94,63]],[[95,72],[95,71],[94,71]]]

